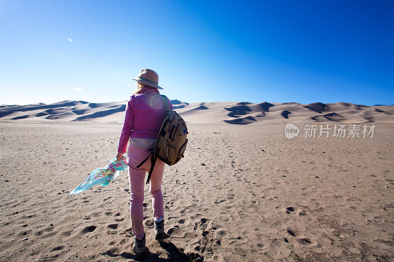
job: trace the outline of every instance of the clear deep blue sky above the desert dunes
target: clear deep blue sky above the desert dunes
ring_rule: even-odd
[[[190,103],[394,104],[393,12],[391,0],[0,0],[0,104],[126,100],[141,68]]]

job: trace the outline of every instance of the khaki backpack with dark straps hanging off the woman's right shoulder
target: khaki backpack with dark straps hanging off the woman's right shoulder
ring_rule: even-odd
[[[162,160],[165,164],[172,166],[184,157],[183,153],[188,144],[186,137],[189,133],[185,120],[175,111],[171,110],[167,97],[165,95],[161,96],[167,111],[163,115],[164,120],[156,139],[155,147],[152,149],[153,151],[150,155],[136,166],[136,168],[139,168],[149,157],[151,157],[151,169],[148,174],[148,179],[146,180],[147,184],[151,179],[157,158]]]

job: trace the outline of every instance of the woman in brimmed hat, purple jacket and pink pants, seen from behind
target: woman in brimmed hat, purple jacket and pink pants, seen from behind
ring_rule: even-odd
[[[136,166],[150,154],[155,146],[166,109],[158,90],[163,88],[158,86],[159,76],[155,71],[141,69],[138,77],[131,79],[137,81],[138,90],[130,97],[126,105],[125,121],[116,157],[119,160],[122,154],[127,151],[131,229],[134,234],[133,251],[140,259],[145,252],[145,233],[142,224],[144,180],[146,172],[150,170],[151,161],[145,161],[140,168],[136,168]],[[168,103],[172,109],[171,103],[169,101]],[[126,150],[129,138],[130,146]],[[158,158],[149,182],[155,220],[155,239],[161,239],[165,235],[164,201],[161,188],[163,172],[164,162]]]

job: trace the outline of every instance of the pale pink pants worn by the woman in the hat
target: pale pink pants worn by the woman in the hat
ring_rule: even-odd
[[[144,202],[144,185],[146,183],[145,174],[151,168],[150,158],[139,168],[136,168],[147,156],[149,152],[146,148],[139,148],[129,145],[127,152],[130,185],[130,217],[131,229],[135,236],[144,233],[142,204]],[[155,168],[149,182],[149,191],[152,197],[152,207],[154,217],[164,216],[164,202],[162,194],[162,178],[164,172],[164,162],[157,159]]]

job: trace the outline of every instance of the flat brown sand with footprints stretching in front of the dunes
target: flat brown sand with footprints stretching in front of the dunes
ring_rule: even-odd
[[[352,122],[357,110],[338,114]],[[190,119],[185,158],[164,171],[162,242],[145,195],[145,261],[394,261],[393,125],[286,139],[282,122]],[[0,261],[133,261],[127,172],[69,196],[114,156],[120,124],[5,120],[0,131]]]

